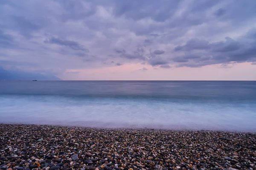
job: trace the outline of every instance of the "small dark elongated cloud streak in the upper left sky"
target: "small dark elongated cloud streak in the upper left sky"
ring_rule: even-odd
[[[84,48],[83,45],[79,44],[76,41],[70,41],[70,40],[64,40],[61,38],[55,38],[55,37],[50,37],[49,39],[44,41],[45,43],[50,43],[50,44],[57,44],[57,45],[63,45],[69,48],[72,48],[73,50],[81,50],[88,52],[89,50]]]

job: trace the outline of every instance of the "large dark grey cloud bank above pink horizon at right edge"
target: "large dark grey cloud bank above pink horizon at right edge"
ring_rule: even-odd
[[[222,64],[221,68],[229,68],[230,62],[251,62],[256,61],[256,37],[255,29],[249,30],[237,40],[226,37],[225,41],[208,42],[206,40],[189,40],[186,45],[175,47],[178,57],[172,60],[177,63],[178,67],[202,67],[204,65]],[[192,45],[192,41],[195,42]],[[198,45],[201,44],[201,48]]]

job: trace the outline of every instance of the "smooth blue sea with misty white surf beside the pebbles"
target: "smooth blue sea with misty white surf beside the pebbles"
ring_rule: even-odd
[[[0,123],[256,131],[256,82],[0,81]]]

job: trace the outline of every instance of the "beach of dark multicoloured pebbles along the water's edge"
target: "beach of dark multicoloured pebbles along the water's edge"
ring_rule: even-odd
[[[0,169],[255,170],[256,133],[1,124]]]

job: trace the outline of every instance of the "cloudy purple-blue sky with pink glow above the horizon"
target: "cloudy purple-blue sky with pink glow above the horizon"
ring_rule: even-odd
[[[256,0],[0,0],[0,68],[63,80],[256,80]]]

